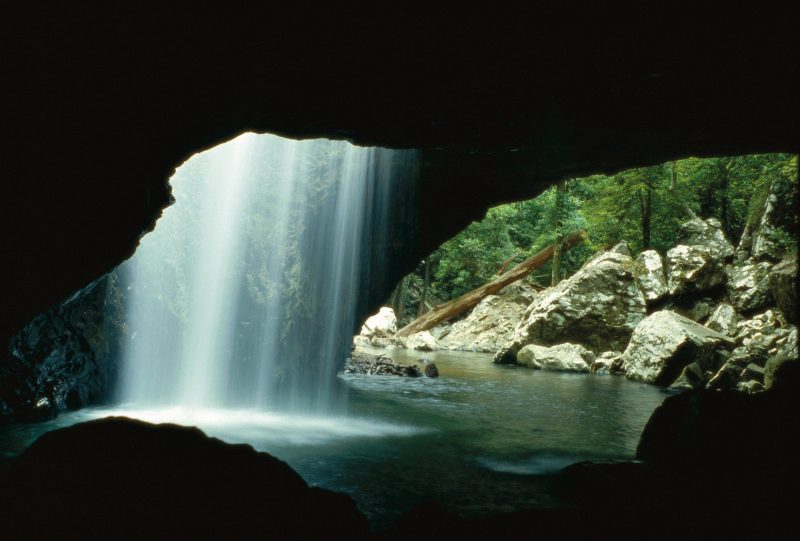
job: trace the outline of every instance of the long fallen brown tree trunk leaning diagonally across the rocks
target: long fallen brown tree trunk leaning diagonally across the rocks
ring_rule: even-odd
[[[568,250],[580,243],[585,238],[585,231],[573,233],[564,239],[563,248]],[[507,285],[513,284],[517,280],[521,280],[537,268],[547,263],[550,258],[553,257],[553,251],[553,246],[548,246],[544,250],[529,257],[507,273],[492,280],[491,282],[488,282],[477,289],[473,289],[469,293],[465,293],[457,299],[440,304],[439,306],[435,306],[427,314],[417,318],[410,324],[397,331],[397,336],[408,336],[409,334],[413,334],[415,332],[432,329],[439,323],[447,321],[448,319],[452,319],[466,310],[473,308],[487,295],[497,293]]]

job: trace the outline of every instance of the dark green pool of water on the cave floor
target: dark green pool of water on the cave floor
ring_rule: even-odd
[[[499,366],[491,355],[395,350],[436,362],[440,377],[341,375],[347,414],[124,406],[0,431],[13,456],[40,434],[107,415],[195,425],[288,462],[312,485],[350,494],[380,527],[429,500],[462,514],[558,506],[555,473],[589,459],[633,458],[666,394],[622,377]]]

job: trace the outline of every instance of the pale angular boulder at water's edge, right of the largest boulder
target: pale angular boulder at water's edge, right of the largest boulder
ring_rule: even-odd
[[[715,352],[733,341],[722,334],[668,310],[639,323],[623,354],[630,379],[670,385],[685,366],[696,362],[703,372],[714,364]]]

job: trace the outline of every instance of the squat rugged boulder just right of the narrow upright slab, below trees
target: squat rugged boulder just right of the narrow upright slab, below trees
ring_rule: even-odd
[[[680,244],[667,252],[667,283],[672,296],[703,292],[725,284],[725,266],[710,248]]]

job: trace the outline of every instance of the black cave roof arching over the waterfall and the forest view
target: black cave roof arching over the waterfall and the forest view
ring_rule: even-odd
[[[11,4],[0,341],[128,257],[170,203],[174,168],[244,130],[422,150],[419,222],[373,304],[488,206],[559,178],[797,151],[793,21],[730,11],[648,7],[632,23],[522,8]]]

